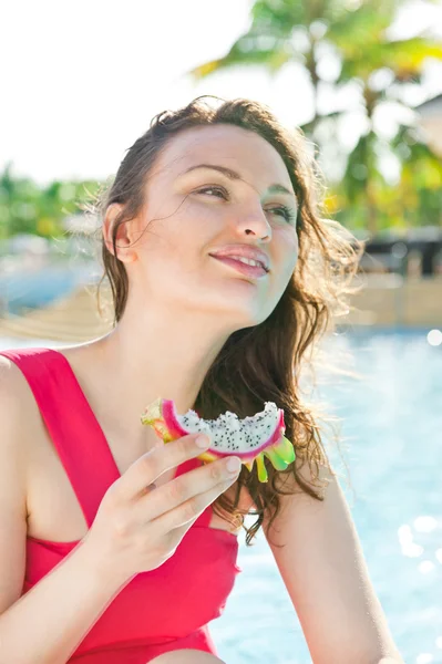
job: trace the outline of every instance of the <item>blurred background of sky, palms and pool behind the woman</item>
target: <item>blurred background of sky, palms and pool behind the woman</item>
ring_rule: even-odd
[[[360,377],[323,372],[315,398],[341,418],[342,488],[402,656],[442,662],[442,2],[16,0],[2,28],[0,349],[111,329],[85,204],[153,115],[241,96],[302,128],[329,216],[367,240],[323,342]],[[264,535],[239,539],[219,655],[310,663]]]

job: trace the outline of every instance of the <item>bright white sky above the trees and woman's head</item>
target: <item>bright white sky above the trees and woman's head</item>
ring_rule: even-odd
[[[12,160],[17,175],[41,184],[106,178],[153,115],[201,94],[250,97],[288,126],[307,122],[309,86],[296,65],[274,81],[255,68],[198,85],[183,77],[227,51],[247,29],[250,7],[250,0],[9,0],[0,39],[0,169]],[[401,35],[432,24],[442,38],[442,2],[424,7],[413,2],[403,12]],[[428,68],[425,92],[413,104],[441,92],[441,68]],[[351,106],[353,95],[341,103]],[[361,122],[351,121],[353,134]]]

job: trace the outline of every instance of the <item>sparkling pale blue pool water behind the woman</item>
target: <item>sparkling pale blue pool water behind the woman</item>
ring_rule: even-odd
[[[442,663],[442,345],[432,346],[428,332],[353,331],[333,336],[325,349],[340,366],[363,377],[323,372],[315,395],[342,418],[352,488],[346,481],[341,486],[371,581],[407,664]],[[1,347],[27,344],[0,340]],[[42,340],[32,345],[58,344]],[[345,474],[333,443],[326,444]],[[248,517],[246,523],[254,520]],[[227,664],[310,664],[263,531],[253,548],[246,549],[244,539],[241,533],[243,572],[223,615],[210,623],[219,656]]]

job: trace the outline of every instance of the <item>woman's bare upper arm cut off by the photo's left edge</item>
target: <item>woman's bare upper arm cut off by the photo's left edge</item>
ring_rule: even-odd
[[[0,613],[19,599],[24,577],[28,403],[24,376],[0,356]]]

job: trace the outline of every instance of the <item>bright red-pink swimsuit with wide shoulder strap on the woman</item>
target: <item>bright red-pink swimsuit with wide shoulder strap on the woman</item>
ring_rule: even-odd
[[[51,349],[0,351],[25,376],[69,480],[91,527],[107,488],[121,476],[104,433],[62,353]],[[202,465],[189,459],[176,475]],[[106,606],[72,654],[82,664],[146,664],[178,649],[217,655],[207,623],[218,618],[234,588],[237,537],[209,527],[212,507],[198,517],[174,556],[134,577]],[[22,594],[79,541],[27,538]]]

